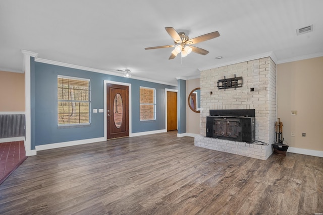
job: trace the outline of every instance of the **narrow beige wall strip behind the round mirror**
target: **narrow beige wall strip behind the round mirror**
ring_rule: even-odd
[[[200,133],[200,114],[195,113],[188,106],[188,95],[198,87],[200,87],[200,79],[186,81],[186,132],[192,134]]]

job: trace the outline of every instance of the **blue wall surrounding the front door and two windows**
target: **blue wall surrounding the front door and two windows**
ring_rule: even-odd
[[[81,69],[35,62],[31,59],[31,149],[35,146],[104,136],[105,113],[91,113],[91,124],[80,128],[58,128],[58,75],[90,79],[91,112],[104,108],[104,80],[131,84],[132,133],[166,129],[165,88],[170,85],[94,73]],[[156,89],[156,120],[139,120],[139,88]]]

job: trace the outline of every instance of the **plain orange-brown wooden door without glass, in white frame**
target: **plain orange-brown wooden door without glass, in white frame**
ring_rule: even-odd
[[[167,91],[167,131],[177,130],[177,92]]]

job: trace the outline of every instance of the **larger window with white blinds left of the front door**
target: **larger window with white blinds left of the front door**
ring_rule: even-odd
[[[58,125],[90,124],[90,80],[58,76]]]

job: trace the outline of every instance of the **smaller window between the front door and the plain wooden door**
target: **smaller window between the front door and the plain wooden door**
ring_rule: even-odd
[[[156,90],[140,87],[140,121],[156,119]]]

